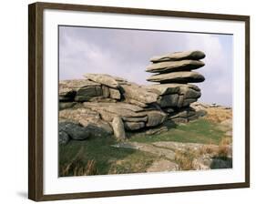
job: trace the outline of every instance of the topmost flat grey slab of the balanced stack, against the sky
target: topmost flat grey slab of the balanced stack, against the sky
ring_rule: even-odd
[[[153,56],[150,61],[157,63],[163,61],[177,61],[183,59],[194,59],[199,60],[205,57],[205,54],[199,50],[185,51],[185,52],[175,52],[169,53],[163,56]]]

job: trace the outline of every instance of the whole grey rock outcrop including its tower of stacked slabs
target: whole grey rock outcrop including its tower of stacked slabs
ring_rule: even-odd
[[[204,80],[191,71],[204,66],[200,61],[204,56],[200,51],[154,56],[146,71],[158,74],[147,80],[159,84],[148,86],[106,74],[60,81],[60,143],[113,134],[124,140],[133,133],[148,134],[155,128],[168,129],[172,122],[196,119],[199,115],[189,106],[201,93],[189,83]]]

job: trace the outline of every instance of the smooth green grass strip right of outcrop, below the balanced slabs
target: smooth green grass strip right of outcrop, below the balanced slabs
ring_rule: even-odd
[[[143,143],[176,141],[219,144],[223,136],[224,132],[218,129],[216,124],[200,118],[186,125],[178,125],[176,128],[170,128],[168,132],[159,135],[133,137],[129,140]]]

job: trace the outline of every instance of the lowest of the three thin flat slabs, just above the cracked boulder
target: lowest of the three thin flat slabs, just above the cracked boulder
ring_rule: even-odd
[[[148,81],[164,83],[196,83],[203,82],[205,80],[204,76],[200,75],[198,72],[172,72],[168,74],[159,74],[149,76]]]

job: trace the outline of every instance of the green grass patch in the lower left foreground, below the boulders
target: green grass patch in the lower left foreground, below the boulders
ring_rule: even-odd
[[[92,174],[105,175],[145,172],[154,160],[154,156],[142,151],[111,147],[116,143],[114,138],[89,138],[83,141],[71,140],[67,145],[60,145],[60,176],[73,176],[72,169],[66,175],[61,170],[72,162],[73,166],[86,167],[89,161],[94,161]]]

